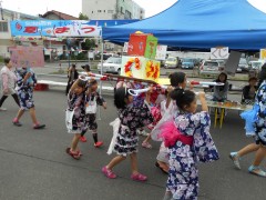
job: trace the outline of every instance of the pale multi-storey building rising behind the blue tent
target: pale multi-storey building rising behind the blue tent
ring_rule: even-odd
[[[92,20],[145,18],[145,10],[133,0],[82,0],[82,13]]]

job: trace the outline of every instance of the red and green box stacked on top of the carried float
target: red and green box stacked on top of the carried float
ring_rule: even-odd
[[[152,34],[131,34],[127,48],[129,56],[155,59],[157,38]]]

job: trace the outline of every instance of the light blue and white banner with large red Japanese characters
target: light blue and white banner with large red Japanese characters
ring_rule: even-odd
[[[14,20],[13,37],[101,37],[102,28],[84,20]]]

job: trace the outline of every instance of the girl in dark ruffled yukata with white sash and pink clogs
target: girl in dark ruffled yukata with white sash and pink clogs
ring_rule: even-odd
[[[131,158],[131,179],[136,181],[146,181],[147,177],[139,172],[137,168],[137,142],[139,136],[136,129],[145,127],[153,122],[150,112],[150,94],[152,89],[146,92],[145,101],[134,104],[133,97],[129,93],[129,89],[122,87],[116,89],[114,94],[114,104],[119,111],[119,118],[111,124],[114,128],[113,142],[111,142],[110,150],[117,153],[115,158],[102,168],[102,172],[110,179],[115,179],[116,174],[113,168],[120,162]]]

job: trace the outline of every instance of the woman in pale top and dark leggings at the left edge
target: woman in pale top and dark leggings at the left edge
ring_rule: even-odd
[[[6,58],[4,67],[1,69],[1,88],[2,88],[2,98],[0,99],[0,110],[7,110],[2,108],[2,103],[4,100],[11,94],[16,101],[16,103],[20,107],[18,94],[14,90],[17,77],[12,69],[12,61],[10,58]]]

